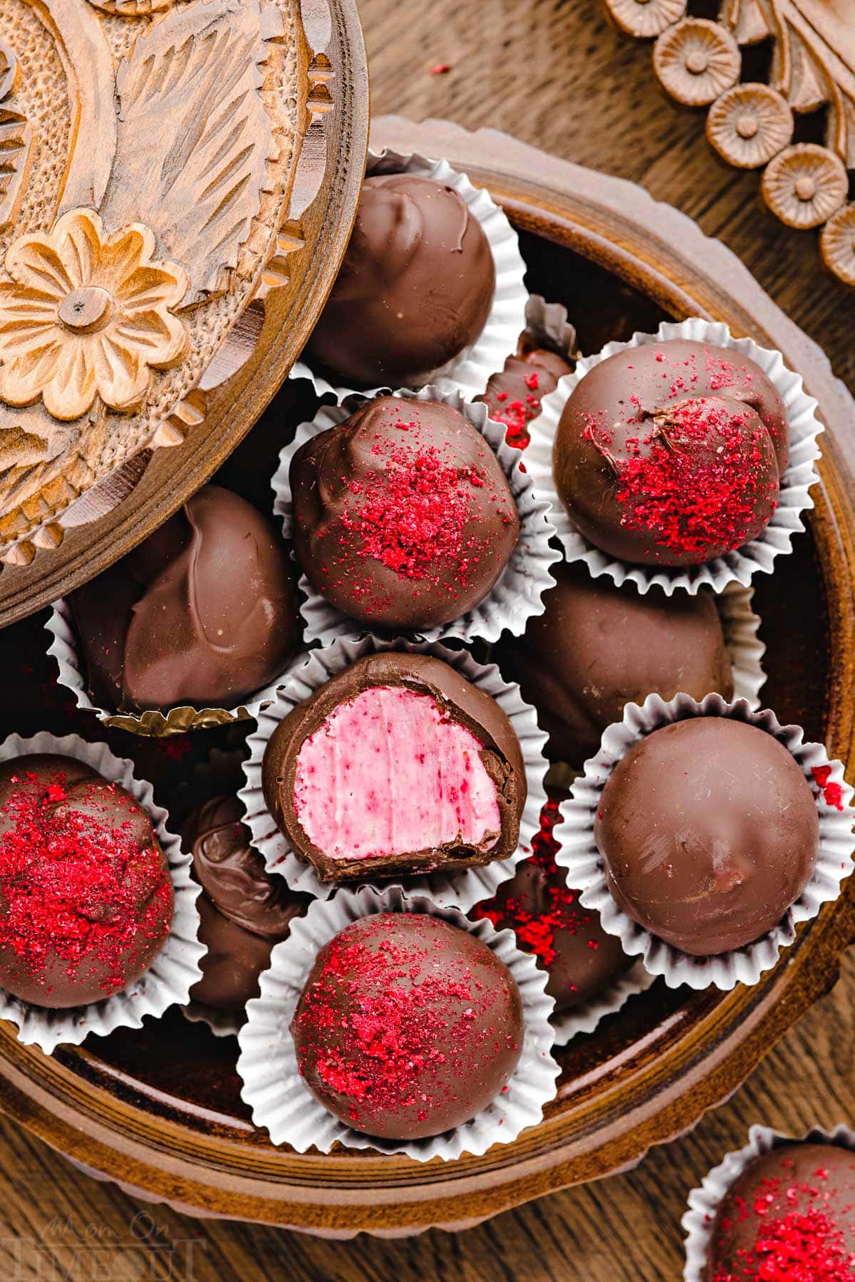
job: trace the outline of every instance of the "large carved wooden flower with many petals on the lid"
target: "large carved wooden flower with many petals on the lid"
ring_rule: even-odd
[[[63,214],[51,232],[21,236],[0,285],[0,399],[54,418],[79,418],[96,396],[113,409],[140,404],[149,367],[174,364],[187,345],[172,314],[187,273],[155,262],[154,233],[138,223],[104,235],[90,209]]]

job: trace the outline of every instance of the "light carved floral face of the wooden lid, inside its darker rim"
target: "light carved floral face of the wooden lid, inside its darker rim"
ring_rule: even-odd
[[[263,273],[300,245],[279,238],[297,15],[0,4],[0,560],[56,546],[135,455],[181,444]]]

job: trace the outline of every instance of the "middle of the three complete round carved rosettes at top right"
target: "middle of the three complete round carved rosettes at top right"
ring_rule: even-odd
[[[740,169],[756,169],[792,137],[787,100],[768,85],[735,85],[713,103],[706,137],[719,155]]]

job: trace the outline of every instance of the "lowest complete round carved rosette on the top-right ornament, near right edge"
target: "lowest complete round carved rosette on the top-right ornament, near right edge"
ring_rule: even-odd
[[[819,227],[847,195],[843,162],[817,142],[787,147],[763,174],[763,197],[787,227]]]

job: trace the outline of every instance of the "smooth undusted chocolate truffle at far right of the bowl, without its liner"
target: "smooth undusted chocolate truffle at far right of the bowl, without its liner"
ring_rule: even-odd
[[[777,738],[692,717],[635,744],[602,790],[594,836],[618,906],[695,956],[778,924],[810,879],[819,815]]]

